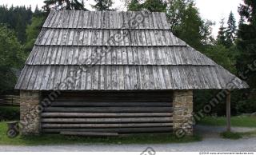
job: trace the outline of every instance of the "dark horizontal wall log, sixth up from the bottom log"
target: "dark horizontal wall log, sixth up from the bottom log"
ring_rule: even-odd
[[[171,102],[90,102],[90,101],[53,101],[50,106],[171,106]]]

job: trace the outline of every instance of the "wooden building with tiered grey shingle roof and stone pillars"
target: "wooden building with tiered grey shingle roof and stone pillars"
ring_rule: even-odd
[[[170,31],[164,13],[53,10],[26,61],[22,133],[193,132],[193,89],[248,85]]]

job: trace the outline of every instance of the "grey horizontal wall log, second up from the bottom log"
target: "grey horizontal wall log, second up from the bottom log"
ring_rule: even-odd
[[[157,127],[173,126],[173,123],[118,123],[118,124],[48,124],[42,123],[42,128],[127,128],[127,127]]]

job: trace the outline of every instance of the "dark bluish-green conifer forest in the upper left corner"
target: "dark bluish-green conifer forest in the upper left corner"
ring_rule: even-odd
[[[31,8],[0,6],[0,23],[5,23],[9,29],[15,31],[19,42],[26,41],[26,25],[30,24],[31,18]]]

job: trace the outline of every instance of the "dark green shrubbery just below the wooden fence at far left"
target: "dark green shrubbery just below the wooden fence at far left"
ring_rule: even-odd
[[[19,120],[19,106],[0,106],[0,121]]]

